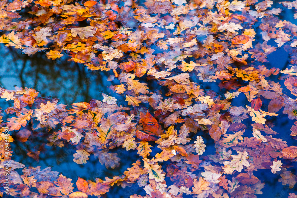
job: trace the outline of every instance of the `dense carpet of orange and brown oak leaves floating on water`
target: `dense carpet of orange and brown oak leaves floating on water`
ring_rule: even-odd
[[[92,154],[106,168],[116,168],[120,158],[109,150],[117,147],[136,149],[141,158],[122,176],[95,182],[78,178],[74,192],[72,180],[50,167],[40,170],[11,160],[9,194],[15,197],[100,197],[114,184],[132,183],[144,187],[146,197],[256,197],[264,187],[253,175],[258,169],[280,174],[279,182],[293,188],[296,176],[287,169],[296,161],[297,147],[274,138],[278,133],[266,118],[282,112],[297,119],[296,99],[291,98],[297,96],[297,26],[280,20],[277,15],[282,10],[271,9],[272,4],[270,0],[147,0],[140,5],[132,0],[1,1],[0,29],[7,32],[1,43],[28,55],[47,50],[46,56],[53,60],[67,54],[69,61],[90,70],[112,71],[109,80],[118,83],[110,89],[127,102],[124,107],[103,94],[102,101],[64,105],[38,96],[33,88],[1,88],[1,98],[13,101],[5,113],[14,115],[8,122],[1,119],[1,183],[6,178],[4,148],[14,141],[9,136],[5,142],[7,126],[20,130],[20,142],[33,131],[48,130],[47,146],[75,146],[73,161],[78,164],[87,163]],[[282,4],[291,9],[296,1]],[[31,11],[18,20],[16,11],[23,9]],[[257,21],[261,24],[255,31]],[[87,26],[80,27],[80,22]],[[255,43],[258,34],[262,43]],[[268,62],[267,56],[283,45],[290,53],[291,68],[280,71],[252,64]],[[268,80],[279,73],[290,93]],[[151,92],[143,76],[164,87],[165,93],[161,88]],[[200,89],[211,82],[228,91],[218,95]],[[249,105],[232,105],[240,94]],[[253,124],[246,126],[247,120]],[[246,131],[250,127],[252,132]],[[203,155],[207,145],[197,134],[201,131],[214,140],[216,153]],[[290,135],[296,134],[297,121]],[[160,152],[153,153],[152,145]],[[37,149],[27,155],[38,160],[39,153]],[[15,171],[20,168],[22,175]],[[170,181],[174,184],[167,186]]]

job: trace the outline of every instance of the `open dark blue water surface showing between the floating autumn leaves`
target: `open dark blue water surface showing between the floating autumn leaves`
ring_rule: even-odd
[[[281,7],[276,2],[275,7]],[[289,10],[284,8],[284,11],[279,16],[282,20],[289,20],[292,23],[297,24],[296,19],[293,18],[293,9]],[[257,25],[257,24],[256,24]],[[257,34],[260,35],[260,34]],[[262,42],[262,38],[257,38]],[[257,41],[255,41],[257,42]],[[255,45],[253,43],[253,46]],[[269,41],[273,42],[273,41]],[[271,45],[272,43],[267,43]],[[152,46],[153,48],[153,46]],[[1,61],[0,61],[0,84],[6,89],[13,89],[13,86],[18,87],[32,87],[40,92],[42,97],[52,97],[60,99],[62,104],[72,104],[74,102],[88,102],[90,99],[102,100],[102,92],[107,93],[110,96],[116,97],[120,104],[127,105],[124,98],[119,97],[109,90],[109,86],[116,84],[117,80],[107,81],[109,75],[112,72],[101,72],[101,71],[89,71],[82,64],[76,64],[67,61],[67,57],[62,57],[57,61],[48,60],[44,53],[37,53],[33,56],[27,56],[20,53],[20,51],[12,49],[11,47],[4,47],[0,44]],[[157,51],[155,51],[156,53]],[[284,46],[277,51],[268,55],[268,63],[265,66],[269,69],[271,67],[279,68],[284,70],[285,68],[290,68],[288,62],[289,54],[285,51]],[[274,82],[279,82],[278,78],[281,74],[269,77],[270,80]],[[192,79],[193,80],[193,79]],[[203,83],[198,79],[194,79],[194,82],[201,83],[202,89],[211,89],[218,94],[224,94],[226,90],[220,90],[217,83]],[[282,87],[283,81],[280,81]],[[148,83],[149,84],[149,83]],[[153,87],[153,84],[149,84]],[[292,96],[290,91],[283,89],[284,94]],[[233,106],[245,106],[241,101],[244,100],[245,96],[241,94],[236,100],[232,100]],[[292,97],[293,98],[293,97]],[[0,107],[4,110],[7,107],[12,106],[12,102],[5,102],[0,100]],[[282,110],[281,110],[282,111]],[[4,120],[7,116],[4,116]],[[279,132],[275,135],[275,138],[281,138],[287,141],[287,145],[297,145],[296,140],[290,138],[290,128],[293,124],[293,120],[289,120],[287,115],[281,114],[279,116],[266,118],[267,122],[274,123],[274,130]],[[248,127],[252,122],[245,121]],[[251,127],[247,131],[251,131]],[[48,133],[47,131],[41,131],[43,133]],[[206,152],[203,155],[214,154],[214,141],[208,137],[203,132],[198,132],[199,135],[203,135],[206,142]],[[15,134],[12,134],[14,136]],[[73,154],[75,153],[75,148],[65,145],[63,148],[59,147],[49,147],[45,144],[48,143],[42,137],[35,138],[34,140],[26,143],[12,142],[11,146],[14,151],[12,154],[12,159],[23,163],[28,167],[41,166],[41,169],[48,166],[52,167],[53,171],[60,171],[67,178],[71,178],[72,182],[76,182],[78,176],[86,180],[95,180],[95,178],[100,178],[105,180],[105,177],[111,178],[113,175],[121,175],[131,164],[135,162],[139,155],[137,151],[130,150],[129,152],[124,149],[117,148],[110,150],[110,152],[118,153],[118,157],[121,158],[120,167],[116,169],[106,169],[104,165],[101,165],[94,157],[94,155],[89,156],[89,160],[86,164],[76,164],[72,161]],[[42,146],[44,150],[40,153],[39,162],[32,158],[29,158],[26,150],[32,150],[34,147]],[[160,150],[154,148],[152,153],[157,153]],[[166,162],[164,162],[166,164]],[[291,172],[296,173],[296,162],[294,162],[293,167],[290,168]],[[254,175],[263,179],[262,183],[265,182],[265,187],[261,190],[262,195],[257,195],[257,197],[287,197],[289,192],[297,192],[297,186],[293,189],[288,189],[287,186],[282,186],[277,180],[280,175],[271,174],[270,170],[258,170],[253,172]],[[267,177],[269,175],[269,177]],[[167,180],[166,180],[167,181]],[[170,180],[167,181],[167,186],[173,184]],[[75,189],[74,189],[75,191]],[[106,195],[107,197],[128,197],[131,194],[141,194],[145,195],[143,188],[138,187],[137,184],[133,184],[131,187],[126,187],[122,189],[117,187],[111,187],[110,192]],[[192,197],[189,195],[189,197]]]

